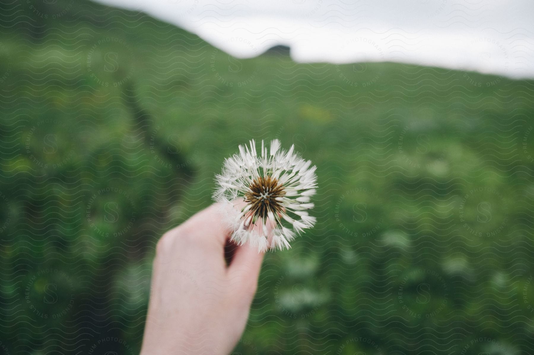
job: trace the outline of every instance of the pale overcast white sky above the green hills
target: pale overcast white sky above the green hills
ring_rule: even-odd
[[[534,0],[98,0],[183,27],[238,58],[396,61],[534,78]]]

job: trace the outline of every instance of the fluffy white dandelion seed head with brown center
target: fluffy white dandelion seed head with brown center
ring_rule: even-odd
[[[313,207],[316,166],[310,166],[311,161],[302,159],[294,148],[282,150],[280,142],[273,140],[267,149],[262,141],[258,155],[252,140],[225,159],[222,173],[216,175],[213,198],[230,204],[235,212],[227,217],[232,241],[250,242],[258,251],[288,249],[296,234],[315,225],[307,210]]]

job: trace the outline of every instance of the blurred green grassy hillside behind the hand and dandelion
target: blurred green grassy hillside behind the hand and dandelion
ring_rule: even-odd
[[[534,81],[236,59],[87,1],[0,19],[0,354],[138,353],[156,241],[252,138],[317,165],[318,223],[236,353],[534,353]]]

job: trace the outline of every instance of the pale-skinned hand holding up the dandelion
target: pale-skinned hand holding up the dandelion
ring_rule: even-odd
[[[241,245],[226,266],[229,237],[218,205],[163,235],[156,246],[141,355],[232,351],[245,329],[263,253]]]

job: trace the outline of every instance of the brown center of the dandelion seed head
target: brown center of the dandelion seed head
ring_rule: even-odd
[[[282,206],[276,198],[285,194],[284,186],[277,179],[269,175],[260,176],[248,187],[245,202],[252,205],[250,213],[257,218],[265,219],[269,211],[273,213],[282,211]]]

